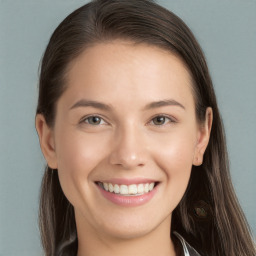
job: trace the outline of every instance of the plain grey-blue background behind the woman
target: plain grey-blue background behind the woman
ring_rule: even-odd
[[[44,159],[34,128],[38,64],[54,28],[88,1],[0,0],[0,255],[41,255]],[[227,133],[232,180],[256,234],[256,1],[158,3],[180,16],[208,60]]]

